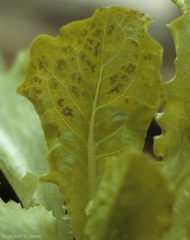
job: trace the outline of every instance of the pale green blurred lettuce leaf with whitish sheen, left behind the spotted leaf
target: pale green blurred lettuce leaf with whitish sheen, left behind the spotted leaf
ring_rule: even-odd
[[[20,51],[12,68],[0,71],[0,158],[19,179],[28,171],[41,175],[48,169],[48,148],[39,117],[32,104],[16,93],[28,63],[28,51]]]

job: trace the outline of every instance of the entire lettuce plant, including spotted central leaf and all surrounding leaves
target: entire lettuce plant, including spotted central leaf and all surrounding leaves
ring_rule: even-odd
[[[151,19],[116,6],[1,67],[0,168],[23,205],[0,200],[2,238],[189,239],[190,1],[174,3],[183,15],[169,25],[167,83]],[[143,153],[154,117],[162,162]]]

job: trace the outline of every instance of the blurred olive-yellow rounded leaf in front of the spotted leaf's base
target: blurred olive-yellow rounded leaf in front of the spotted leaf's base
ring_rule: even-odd
[[[112,157],[87,207],[89,240],[158,240],[171,224],[173,190],[149,156]]]

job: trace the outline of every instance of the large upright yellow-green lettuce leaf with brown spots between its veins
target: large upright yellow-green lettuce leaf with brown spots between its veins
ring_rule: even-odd
[[[160,105],[162,49],[147,33],[150,23],[138,11],[106,7],[31,46],[18,92],[40,116],[50,149],[41,180],[60,186],[77,240],[104,158],[126,146],[142,150]]]

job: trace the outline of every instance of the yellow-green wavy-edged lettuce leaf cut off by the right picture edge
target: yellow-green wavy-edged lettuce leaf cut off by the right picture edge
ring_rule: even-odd
[[[190,1],[174,2],[184,13],[169,25],[177,53],[176,76],[164,84],[164,111],[157,116],[162,135],[154,146],[176,186],[173,225],[166,237],[172,240],[189,239],[190,227]]]

